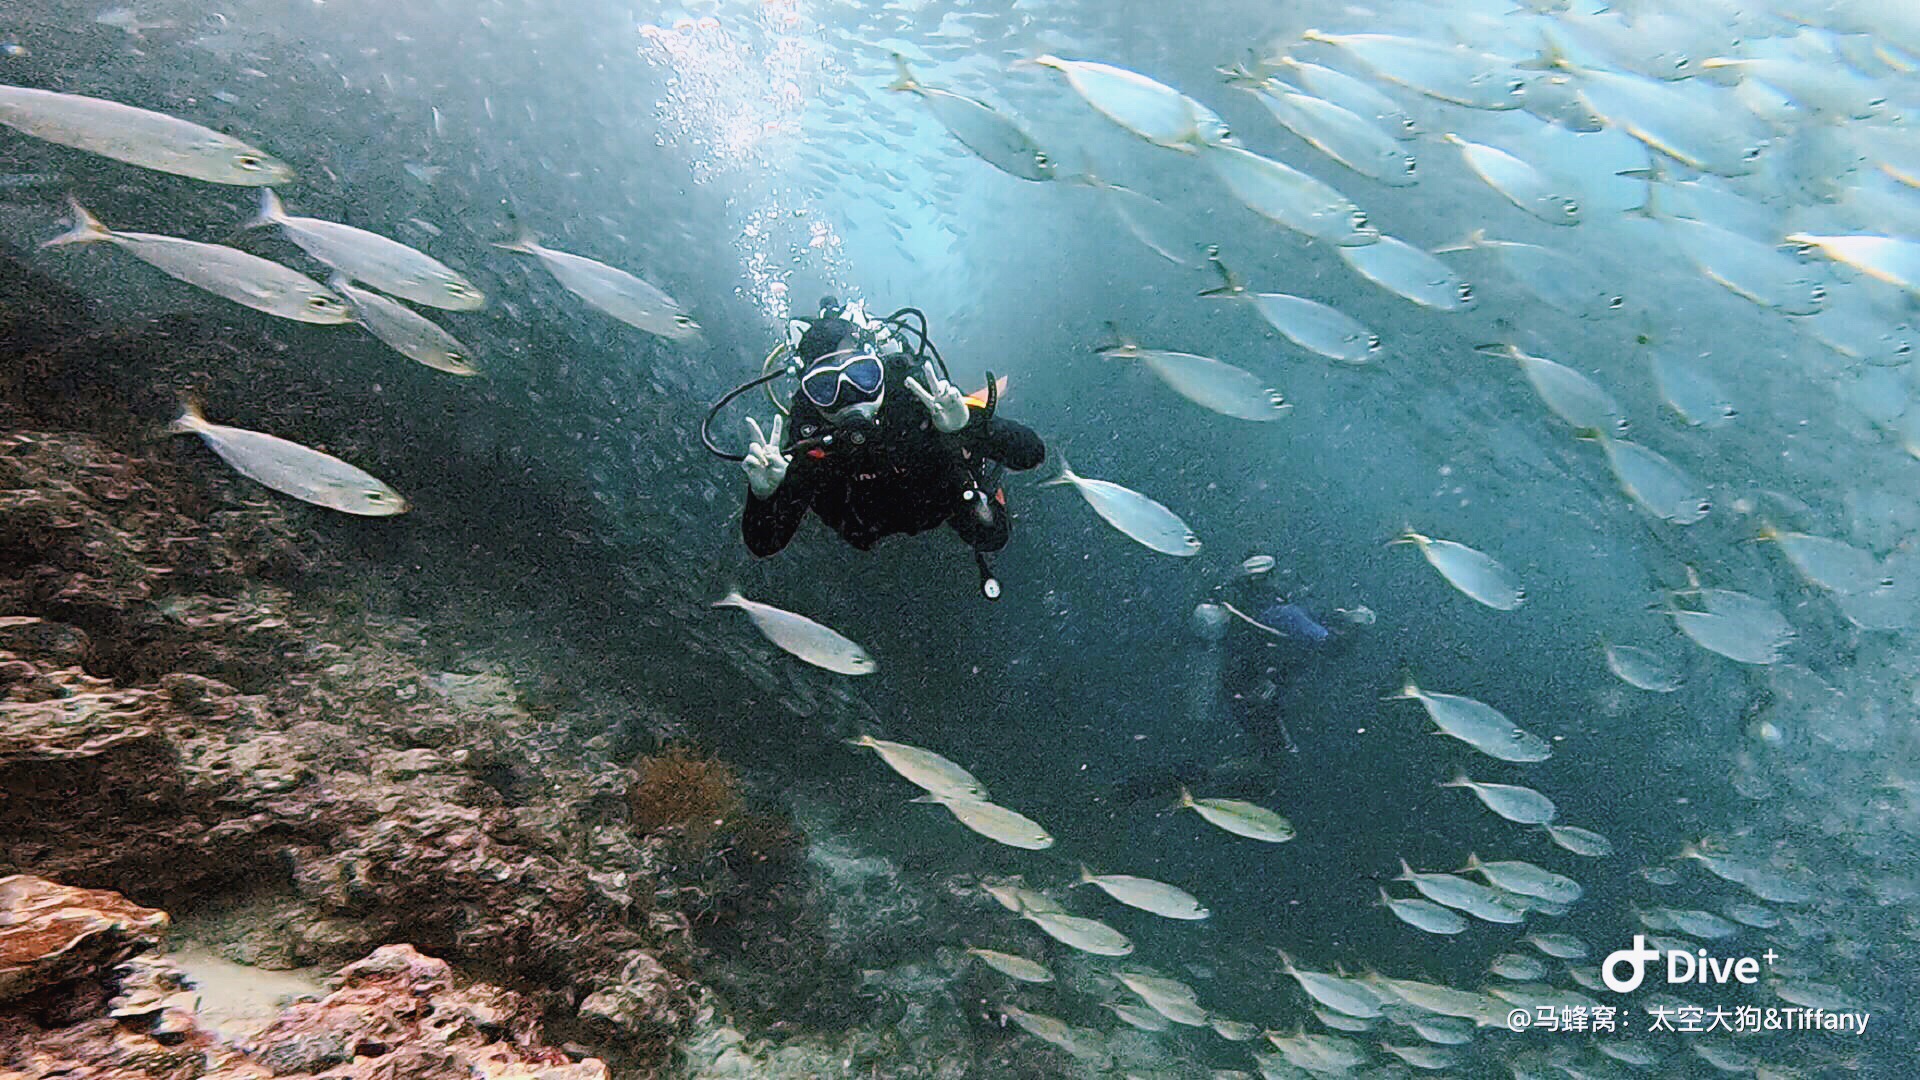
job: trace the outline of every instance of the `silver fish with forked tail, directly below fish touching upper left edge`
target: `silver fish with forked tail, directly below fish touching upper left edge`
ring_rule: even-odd
[[[40,244],[113,244],[171,279],[184,281],[255,311],[294,319],[298,323],[351,323],[346,302],[311,277],[282,267],[276,261],[223,244],[202,244],[157,233],[117,233],[102,225],[77,200],[73,229]]]

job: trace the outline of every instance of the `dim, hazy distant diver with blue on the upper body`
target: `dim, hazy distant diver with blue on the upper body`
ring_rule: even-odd
[[[1192,630],[1204,653],[1188,684],[1194,723],[1227,709],[1261,757],[1300,753],[1279,703],[1286,676],[1304,663],[1344,651],[1350,630],[1373,623],[1367,607],[1336,607],[1325,621],[1313,617],[1279,594],[1267,577],[1271,571],[1271,555],[1254,555],[1233,580],[1194,605]]]

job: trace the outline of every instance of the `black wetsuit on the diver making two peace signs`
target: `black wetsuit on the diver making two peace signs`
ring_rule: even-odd
[[[925,532],[941,523],[950,523],[977,552],[1006,546],[1010,523],[1004,496],[987,492],[993,498],[981,513],[977,502],[962,500],[962,494],[987,480],[989,461],[1008,469],[1033,469],[1044,461],[1041,436],[1027,425],[987,417],[985,409],[972,405],[964,429],[941,432],[927,407],[906,388],[912,375],[908,359],[893,354],[885,363],[887,392],[876,425],[862,429],[864,442],[856,444],[852,432],[837,432],[812,402],[793,396],[783,450],[828,432],[835,440],[829,448],[795,454],[787,479],[772,496],[762,500],[747,490],[739,532],[749,552],[766,557],[785,548],[808,507],[862,552],[881,536]]]

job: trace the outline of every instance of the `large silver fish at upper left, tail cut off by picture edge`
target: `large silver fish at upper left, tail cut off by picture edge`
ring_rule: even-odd
[[[0,86],[0,123],[23,135],[215,184],[284,184],[294,169],[198,123],[104,98]]]

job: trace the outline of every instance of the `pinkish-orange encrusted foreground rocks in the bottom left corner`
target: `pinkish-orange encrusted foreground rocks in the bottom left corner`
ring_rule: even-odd
[[[205,1028],[196,988],[150,949],[167,917],[104,890],[0,882],[0,1076],[156,1080],[607,1080],[541,1042],[526,997],[459,978],[411,945],[384,945],[296,1001],[246,1045]],[[48,999],[65,1009],[50,1015]]]

